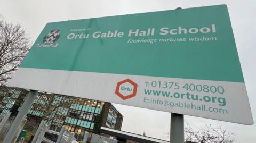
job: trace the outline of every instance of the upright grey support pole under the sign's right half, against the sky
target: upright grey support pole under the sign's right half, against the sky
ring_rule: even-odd
[[[184,143],[184,115],[171,113],[170,143]]]

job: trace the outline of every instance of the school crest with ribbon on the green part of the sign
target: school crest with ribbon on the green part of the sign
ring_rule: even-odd
[[[36,47],[57,47],[59,43],[55,43],[60,38],[60,30],[55,29],[51,30],[46,36],[43,38],[43,44],[36,44]]]

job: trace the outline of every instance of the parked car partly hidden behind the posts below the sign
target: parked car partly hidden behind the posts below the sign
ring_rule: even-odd
[[[59,132],[55,132],[52,130],[47,130],[44,134],[42,143],[55,143],[59,137]],[[67,143],[68,141],[68,135],[67,134],[63,134],[60,143]],[[75,138],[73,138],[72,143],[78,143],[77,140]]]

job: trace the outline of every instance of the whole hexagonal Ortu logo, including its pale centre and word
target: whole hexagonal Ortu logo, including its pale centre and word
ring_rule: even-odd
[[[130,79],[117,82],[116,95],[123,100],[136,96],[138,85]]]

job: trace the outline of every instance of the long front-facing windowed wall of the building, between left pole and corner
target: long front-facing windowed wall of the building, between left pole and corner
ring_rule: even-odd
[[[77,139],[85,131],[94,129],[95,116],[99,116],[104,102],[57,94],[38,93],[29,114],[42,117],[50,129],[59,131],[66,126],[66,133],[75,132]]]

